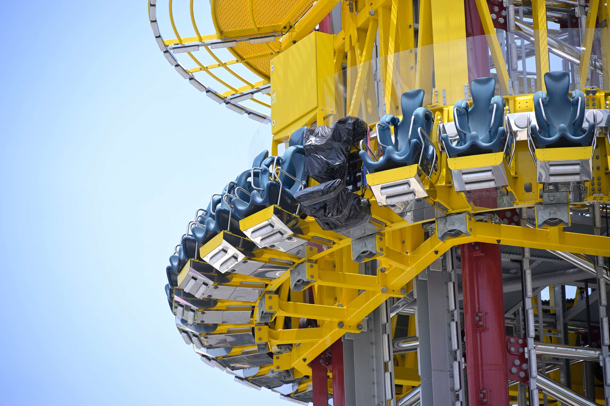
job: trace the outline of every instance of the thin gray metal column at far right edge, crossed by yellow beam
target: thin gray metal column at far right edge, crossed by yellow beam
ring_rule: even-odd
[[[593,217],[593,232],[596,236],[600,235],[601,228],[601,215],[600,205],[591,205]],[[608,331],[608,315],[606,315],[606,304],[608,299],[606,298],[606,278],[604,275],[604,257],[596,256],[593,259],[595,265],[595,272],[597,274],[597,292],[598,292],[598,306],[600,311],[600,331],[601,331],[601,367],[603,369],[603,385],[604,385],[604,398],[606,399],[606,405],[610,404],[610,354],[608,354],[608,345],[610,345],[610,335]]]

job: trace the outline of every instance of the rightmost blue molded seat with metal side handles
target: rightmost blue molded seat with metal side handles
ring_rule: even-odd
[[[534,94],[536,122],[530,127],[533,141],[538,148],[586,147],[590,145],[595,125],[583,129],[584,93],[570,91],[568,72],[553,71],[544,74],[547,93]]]

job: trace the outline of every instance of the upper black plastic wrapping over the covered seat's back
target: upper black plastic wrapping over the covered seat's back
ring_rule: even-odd
[[[366,123],[351,116],[337,120],[332,128],[328,125],[307,128],[303,135],[307,176],[320,183],[344,179],[351,146],[366,136]]]

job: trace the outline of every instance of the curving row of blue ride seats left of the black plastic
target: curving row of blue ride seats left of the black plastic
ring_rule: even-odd
[[[188,259],[196,257],[196,249],[212,239],[220,231],[230,231],[245,237],[239,228],[239,220],[245,219],[271,205],[294,212],[298,203],[294,194],[306,181],[303,133],[307,127],[299,128],[290,135],[289,147],[282,156],[269,156],[264,150],[254,158],[252,167],[240,173],[234,181],[214,194],[206,209],[196,212],[196,219],[188,224],[170,256],[166,268],[168,285],[165,290],[170,300],[170,287],[178,285],[178,273]],[[275,174],[274,168],[279,168]]]

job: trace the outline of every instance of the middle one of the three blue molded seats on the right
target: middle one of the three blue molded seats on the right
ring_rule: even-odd
[[[495,79],[481,77],[470,83],[472,107],[466,100],[460,100],[453,107],[454,121],[458,130],[458,142],[451,144],[447,134],[441,134],[448,156],[478,155],[500,152],[504,129],[504,99],[493,96]]]

